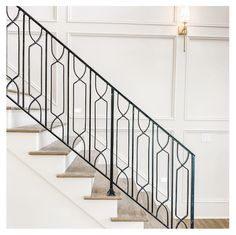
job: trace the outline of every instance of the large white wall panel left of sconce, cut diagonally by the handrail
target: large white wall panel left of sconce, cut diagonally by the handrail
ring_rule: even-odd
[[[70,47],[148,114],[155,119],[173,118],[175,37],[70,33],[68,38]]]

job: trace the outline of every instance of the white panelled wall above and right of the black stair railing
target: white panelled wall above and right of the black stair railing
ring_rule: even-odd
[[[227,217],[228,8],[190,8],[186,52],[178,7],[24,8],[193,150],[196,216]]]

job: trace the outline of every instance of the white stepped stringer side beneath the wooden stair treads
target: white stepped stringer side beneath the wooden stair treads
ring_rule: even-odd
[[[35,139],[29,133],[20,133],[20,138],[16,134],[19,133],[7,133],[7,149],[101,226],[104,228],[143,228],[143,223],[113,223],[111,217],[117,216],[117,200],[95,200],[92,202],[84,200],[84,196],[91,194],[93,179],[57,178],[56,175],[68,167],[65,166],[67,156],[29,156],[28,152],[37,148],[34,143]],[[77,151],[80,151],[80,146],[77,146]],[[76,156],[74,152],[70,154]]]

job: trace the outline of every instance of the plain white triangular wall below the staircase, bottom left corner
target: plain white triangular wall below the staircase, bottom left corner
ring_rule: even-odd
[[[8,228],[101,228],[10,151],[7,166]]]

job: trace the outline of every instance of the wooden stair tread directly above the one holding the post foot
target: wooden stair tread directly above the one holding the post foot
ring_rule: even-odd
[[[57,178],[94,178],[95,172],[96,170],[93,167],[78,156],[64,173],[57,175]]]

